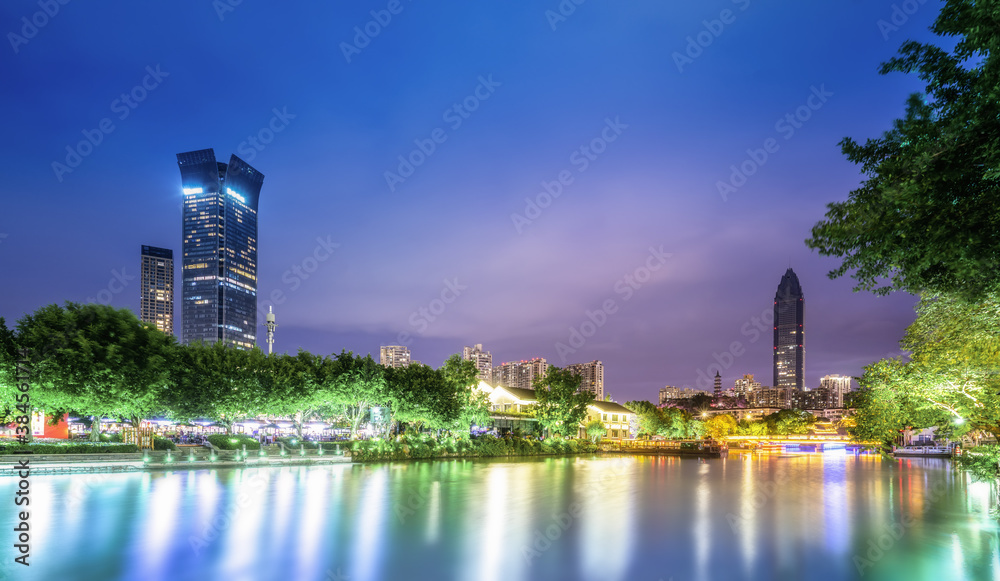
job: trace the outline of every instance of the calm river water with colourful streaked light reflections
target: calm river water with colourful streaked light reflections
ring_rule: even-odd
[[[0,579],[1000,579],[989,486],[936,459],[571,457],[30,484],[25,568],[3,500],[16,481],[0,479]]]

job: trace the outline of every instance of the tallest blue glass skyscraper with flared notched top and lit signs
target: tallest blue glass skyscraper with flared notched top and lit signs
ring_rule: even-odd
[[[184,192],[181,342],[257,342],[257,201],[264,175],[211,149],[177,154]]]

